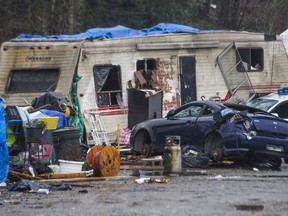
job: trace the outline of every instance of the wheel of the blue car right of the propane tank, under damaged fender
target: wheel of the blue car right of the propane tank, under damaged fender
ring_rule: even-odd
[[[204,152],[213,162],[220,162],[224,155],[224,145],[221,137],[217,134],[209,135],[205,140]]]

